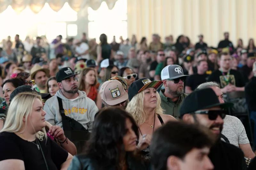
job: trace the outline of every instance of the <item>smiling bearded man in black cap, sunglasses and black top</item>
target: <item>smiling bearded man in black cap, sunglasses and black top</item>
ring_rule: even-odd
[[[180,106],[180,119],[209,128],[216,138],[209,158],[218,170],[246,169],[244,154],[241,149],[220,140],[223,119],[233,103],[220,103],[211,88],[200,89],[187,96]]]

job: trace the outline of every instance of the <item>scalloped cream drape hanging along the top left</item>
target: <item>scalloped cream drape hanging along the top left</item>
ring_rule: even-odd
[[[90,6],[93,10],[97,10],[103,1],[106,2],[108,8],[111,10],[117,0],[0,0],[0,13],[11,5],[13,10],[19,14],[29,5],[30,9],[37,14],[46,2],[56,12],[60,11],[66,2],[76,12],[85,6]]]

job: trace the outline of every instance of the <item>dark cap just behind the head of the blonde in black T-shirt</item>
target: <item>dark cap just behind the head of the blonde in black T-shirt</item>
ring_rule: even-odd
[[[39,94],[42,97],[42,99],[49,99],[50,97],[52,97],[51,94],[49,94],[49,93],[38,92],[34,87],[32,87],[30,85],[21,85],[13,90],[13,92],[10,95],[9,101],[11,101],[17,94],[19,94],[21,92],[36,92],[37,94]]]

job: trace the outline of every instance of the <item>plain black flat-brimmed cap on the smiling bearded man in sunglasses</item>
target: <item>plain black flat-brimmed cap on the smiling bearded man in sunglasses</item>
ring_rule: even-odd
[[[222,109],[233,107],[233,103],[220,103],[215,92],[211,88],[195,90],[190,93],[182,102],[180,106],[180,117],[185,114],[203,110],[215,106],[220,106]]]

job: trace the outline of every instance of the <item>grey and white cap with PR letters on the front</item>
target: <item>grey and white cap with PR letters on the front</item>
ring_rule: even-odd
[[[168,80],[168,79],[175,79],[180,77],[185,77],[188,75],[184,75],[183,69],[179,65],[167,65],[161,71],[161,79]]]

